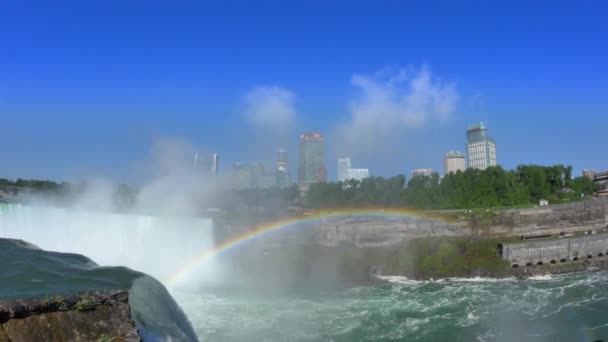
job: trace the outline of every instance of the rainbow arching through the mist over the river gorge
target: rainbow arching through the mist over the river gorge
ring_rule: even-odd
[[[237,246],[243,245],[248,241],[254,240],[263,235],[274,231],[290,228],[301,227],[307,224],[319,222],[324,219],[344,218],[344,217],[382,217],[382,218],[399,218],[399,217],[418,217],[447,222],[445,217],[428,212],[415,211],[410,209],[392,209],[392,208],[352,208],[352,209],[337,209],[337,210],[322,210],[311,213],[306,213],[298,216],[283,218],[277,221],[267,222],[252,227],[251,229],[231,237],[228,240],[221,242],[209,248],[202,253],[196,255],[187,261],[182,267],[177,269],[167,280],[169,286],[176,285],[179,281],[185,278],[189,273],[204,265],[210,259],[225,253]]]

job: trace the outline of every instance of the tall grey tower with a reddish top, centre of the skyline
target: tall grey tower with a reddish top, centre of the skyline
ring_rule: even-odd
[[[306,189],[310,184],[325,182],[325,146],[321,133],[300,134],[300,160],[298,161],[298,183]]]

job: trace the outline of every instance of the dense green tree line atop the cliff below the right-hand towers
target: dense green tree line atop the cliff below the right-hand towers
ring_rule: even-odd
[[[520,165],[515,170],[500,166],[467,169],[440,178],[415,176],[369,177],[361,181],[311,185],[305,203],[311,208],[411,207],[417,209],[464,209],[571,201],[592,195],[597,186],[586,177],[572,178],[572,167]]]

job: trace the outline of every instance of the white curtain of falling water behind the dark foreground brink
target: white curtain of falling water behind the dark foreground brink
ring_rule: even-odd
[[[213,246],[213,226],[206,218],[3,204],[0,237],[83,254],[102,266],[126,266],[166,284],[171,274]],[[208,263],[192,279],[211,279],[212,268]]]

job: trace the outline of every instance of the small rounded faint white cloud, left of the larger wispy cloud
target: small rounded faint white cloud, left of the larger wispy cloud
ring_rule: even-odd
[[[255,87],[245,96],[246,116],[257,129],[285,132],[293,128],[296,110],[294,95],[276,86]]]

